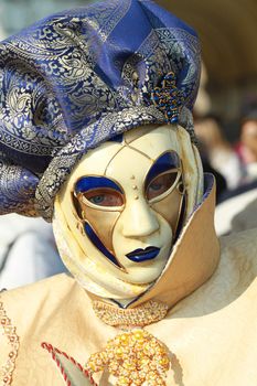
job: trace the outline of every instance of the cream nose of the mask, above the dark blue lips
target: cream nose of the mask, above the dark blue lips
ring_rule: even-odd
[[[144,200],[130,203],[122,213],[122,235],[125,237],[146,237],[160,228],[157,215]]]

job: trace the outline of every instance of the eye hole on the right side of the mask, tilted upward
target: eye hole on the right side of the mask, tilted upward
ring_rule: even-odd
[[[179,174],[180,173],[178,170],[172,170],[156,176],[148,184],[146,192],[147,200],[152,201],[154,199],[161,197],[162,194],[167,193],[171,187],[173,187],[178,181]]]

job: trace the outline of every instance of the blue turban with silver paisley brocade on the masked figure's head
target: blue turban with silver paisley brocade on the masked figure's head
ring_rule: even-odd
[[[195,32],[149,0],[107,0],[41,20],[0,44],[0,214],[42,215],[88,149],[165,122],[151,101],[173,72],[193,107]],[[182,118],[184,116],[184,118]],[[186,114],[181,114],[190,130]],[[188,119],[188,120],[186,120]]]

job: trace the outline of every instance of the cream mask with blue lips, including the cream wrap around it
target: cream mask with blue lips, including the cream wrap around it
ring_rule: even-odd
[[[83,157],[55,200],[53,223],[84,288],[131,299],[159,278],[201,195],[195,164],[189,135],[174,125],[132,129]]]

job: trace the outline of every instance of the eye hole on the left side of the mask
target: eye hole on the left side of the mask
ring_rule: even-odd
[[[114,189],[92,189],[88,192],[79,194],[78,201],[83,201],[84,204],[93,204],[96,206],[122,206],[122,195]],[[79,200],[81,199],[81,200]]]

